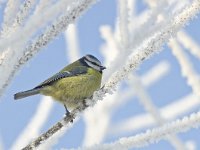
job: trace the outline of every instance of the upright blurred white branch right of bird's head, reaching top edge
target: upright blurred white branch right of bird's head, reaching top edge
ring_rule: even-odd
[[[130,52],[130,36],[129,36],[129,20],[128,20],[128,1],[127,0],[118,0],[118,16],[119,16],[119,25],[116,25],[116,38],[113,34],[109,34],[109,30],[102,30],[102,35],[107,35],[105,40],[109,44],[114,44],[115,50],[118,55],[116,55],[115,62],[109,66],[109,72],[106,72],[104,75],[105,81],[108,80],[110,75],[115,72],[119,66],[120,62],[127,57],[127,53]],[[117,34],[117,29],[119,28],[119,34]],[[106,33],[107,32],[107,33]],[[112,39],[108,41],[108,39]],[[111,43],[112,42],[112,43]],[[112,54],[112,53],[110,53]]]

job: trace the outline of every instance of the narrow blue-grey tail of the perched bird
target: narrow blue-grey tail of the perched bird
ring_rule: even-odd
[[[18,99],[25,98],[31,95],[36,95],[36,94],[39,94],[39,92],[40,92],[40,88],[19,92],[14,95],[14,99],[18,100]]]

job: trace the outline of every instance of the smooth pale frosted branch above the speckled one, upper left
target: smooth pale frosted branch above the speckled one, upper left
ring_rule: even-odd
[[[40,15],[33,14],[23,28],[20,28],[12,33],[9,39],[3,39],[0,41],[0,51],[1,49],[10,47],[10,43],[15,46],[25,44],[29,38],[33,36],[36,31],[38,31],[39,28],[51,21],[51,18],[54,18],[61,12],[65,12],[65,10],[70,9],[67,7],[70,3],[72,5],[72,0],[61,0],[48,8],[45,12],[40,13]],[[18,35],[20,35],[20,38],[18,38]]]

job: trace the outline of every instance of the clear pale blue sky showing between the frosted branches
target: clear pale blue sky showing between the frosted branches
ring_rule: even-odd
[[[146,8],[143,3],[137,4],[137,11],[141,11]],[[4,8],[4,7],[3,7]],[[1,11],[3,9],[1,8]],[[2,20],[1,12],[1,20]],[[99,33],[99,26],[103,24],[109,24],[112,27],[116,21],[116,1],[114,0],[101,0],[94,5],[89,11],[87,11],[78,21],[79,41],[81,48],[81,55],[91,53],[97,56],[103,61],[103,57],[99,53],[99,47],[104,42]],[[190,22],[190,25],[186,27],[187,31],[195,38],[196,41],[200,41],[200,19],[194,19]],[[36,86],[41,81],[45,80],[52,74],[59,71],[63,66],[68,64],[67,54],[65,51],[64,36],[60,35],[57,39],[51,42],[40,53],[38,53],[26,67],[23,67],[12,84],[7,89],[5,95],[0,101],[0,135],[3,138],[5,149],[8,149],[21,131],[26,127],[30,118],[34,114],[37,105],[41,99],[41,96],[34,96],[22,101],[14,101],[13,94],[30,89]],[[187,53],[192,60],[196,70],[200,72],[199,60]],[[191,88],[187,86],[185,78],[180,75],[180,67],[177,60],[171,54],[168,47],[164,47],[164,51],[156,54],[150,60],[145,61],[137,70],[139,74],[144,74],[151,67],[161,60],[168,60],[171,65],[170,73],[162,78],[161,81],[156,82],[148,89],[154,103],[157,107],[165,106],[184,95],[191,92]],[[105,99],[106,100],[106,99]],[[177,106],[178,107],[178,106]],[[197,110],[192,110],[196,112]],[[143,106],[138,101],[130,101],[128,104],[122,106],[117,114],[112,118],[112,124],[115,124],[128,117],[145,112]],[[60,118],[62,118],[65,110],[63,106],[55,103],[53,111],[45,124],[42,132],[46,131],[49,127],[55,124]],[[42,114],[41,114],[42,115]],[[101,119],[101,118],[99,118]],[[58,144],[54,148],[72,148],[78,147],[82,144],[84,137],[84,123],[82,119],[76,123],[71,130],[69,130],[64,137],[62,137]],[[98,130],[98,129],[97,129]],[[145,131],[145,130],[144,130]],[[139,133],[141,131],[137,131]],[[194,140],[197,144],[197,149],[200,149],[200,135],[199,129],[192,129],[186,133],[178,134],[183,142],[188,140]],[[128,135],[134,135],[129,133]],[[116,137],[108,136],[104,142],[110,142],[117,140],[119,137],[127,136],[119,135]],[[169,150],[173,147],[167,141],[160,141],[156,144],[151,144],[148,147],[142,149],[163,149]]]

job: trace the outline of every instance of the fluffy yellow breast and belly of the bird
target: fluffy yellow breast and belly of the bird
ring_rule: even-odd
[[[52,96],[68,108],[76,107],[79,101],[89,98],[101,86],[101,73],[89,69],[87,74],[67,77],[45,87],[41,93]]]

